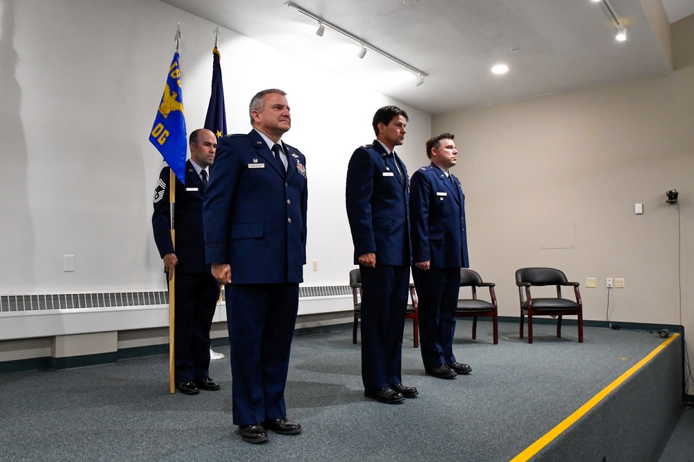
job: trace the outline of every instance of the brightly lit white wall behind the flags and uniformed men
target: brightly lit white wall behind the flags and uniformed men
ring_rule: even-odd
[[[151,198],[164,164],[149,130],[178,22],[187,128],[203,125],[214,24],[155,0],[0,5],[0,293],[164,288],[151,231]],[[307,258],[319,261],[317,272],[305,267],[305,284],[346,284],[353,268],[347,162],[373,139],[373,112],[400,103],[233,31],[221,33],[230,132],[250,130],[255,92],[288,93],[293,123],[285,141],[307,157]],[[416,169],[430,117],[401,106],[413,141],[399,152]],[[62,271],[63,255],[75,255],[74,272]]]

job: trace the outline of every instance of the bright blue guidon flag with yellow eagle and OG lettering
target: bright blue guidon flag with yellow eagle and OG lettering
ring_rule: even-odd
[[[174,171],[176,178],[185,185],[185,158],[188,148],[178,60],[178,53],[174,53],[167,84],[164,86],[164,95],[149,134],[149,141],[164,157],[164,161]]]

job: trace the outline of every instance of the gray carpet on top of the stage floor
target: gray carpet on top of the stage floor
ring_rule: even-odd
[[[534,344],[500,323],[459,320],[455,353],[473,373],[424,374],[405,325],[403,383],[419,397],[364,398],[351,332],[294,339],[288,417],[300,435],[244,443],[231,417],[228,357],[210,375],[221,391],[169,394],[168,356],[57,372],[0,375],[2,461],[509,461],[662,343],[657,334],[535,325]],[[227,354],[227,348],[215,348]]]

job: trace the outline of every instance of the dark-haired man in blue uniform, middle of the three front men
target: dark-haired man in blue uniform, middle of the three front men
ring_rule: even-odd
[[[403,144],[407,120],[396,106],[376,111],[376,139],[354,151],[347,169],[347,217],[362,276],[364,396],[388,404],[418,394],[400,371],[411,259],[407,169],[393,149]]]

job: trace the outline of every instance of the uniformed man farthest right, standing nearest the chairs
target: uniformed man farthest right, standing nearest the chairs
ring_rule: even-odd
[[[425,372],[441,379],[471,371],[453,355],[460,268],[468,267],[465,196],[449,171],[457,162],[453,137],[441,133],[428,140],[431,164],[412,174],[409,193],[420,349]]]

